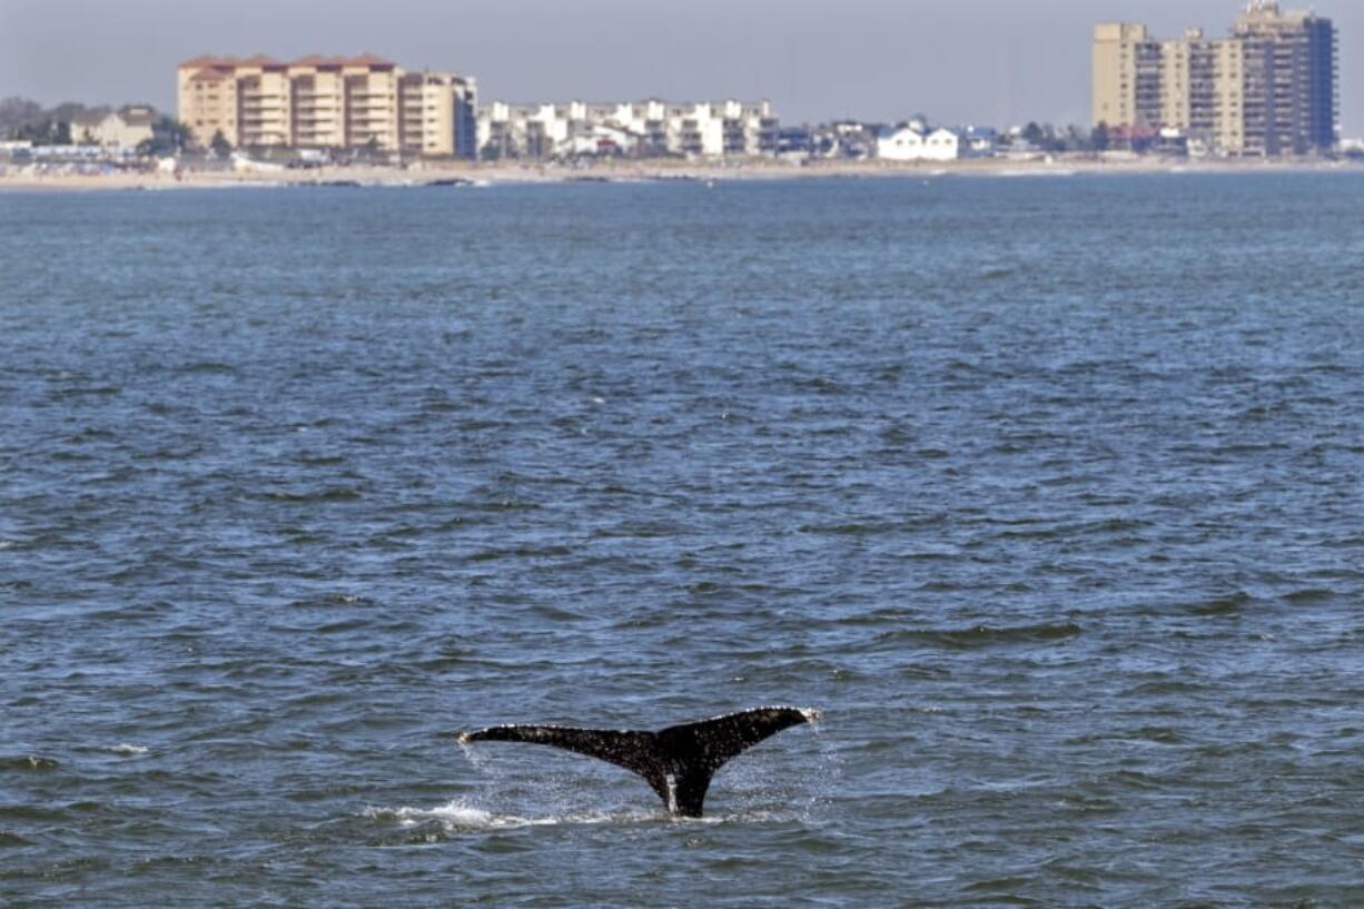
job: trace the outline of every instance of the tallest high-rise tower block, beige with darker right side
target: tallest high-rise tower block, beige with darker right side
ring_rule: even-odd
[[[1339,139],[1335,29],[1254,0],[1225,38],[1189,29],[1094,29],[1094,123],[1128,136],[1174,131],[1213,154],[1330,152]]]

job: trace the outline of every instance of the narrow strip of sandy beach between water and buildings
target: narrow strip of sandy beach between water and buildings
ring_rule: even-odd
[[[1093,157],[1053,160],[967,158],[960,161],[604,161],[587,168],[554,164],[442,162],[416,168],[327,167],[308,171],[169,173],[0,173],[0,191],[207,190],[241,187],[441,187],[527,183],[627,183],[655,180],[791,180],[818,177],[1008,177],[1143,173],[1364,173],[1360,161],[1188,161]]]

